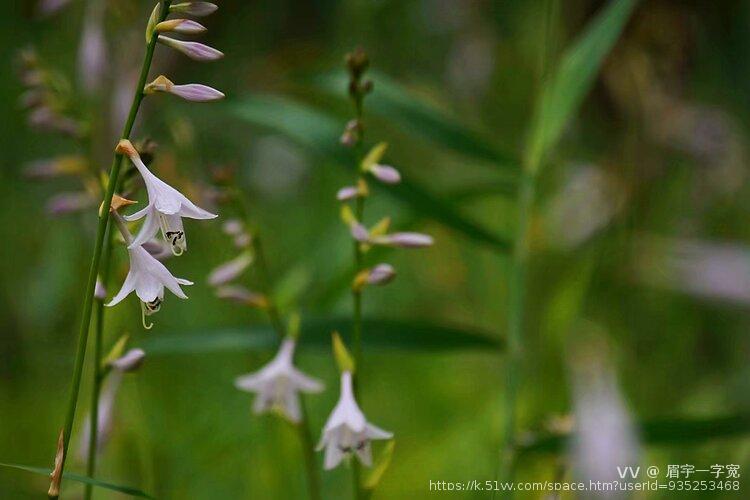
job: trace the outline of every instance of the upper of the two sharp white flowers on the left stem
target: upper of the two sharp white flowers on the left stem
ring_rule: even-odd
[[[172,246],[172,252],[175,255],[182,254],[187,249],[187,238],[185,237],[182,218],[214,219],[217,216],[199,208],[182,193],[152,174],[129,141],[121,141],[117,150],[119,153],[126,154],[133,162],[133,165],[143,177],[148,193],[148,205],[142,210],[124,217],[127,221],[146,218],[140,232],[128,248],[143,245],[153,238],[161,228],[164,239]]]

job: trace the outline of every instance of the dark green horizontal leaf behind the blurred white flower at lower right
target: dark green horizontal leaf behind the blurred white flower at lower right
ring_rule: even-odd
[[[643,442],[649,445],[703,443],[712,439],[750,433],[750,415],[732,415],[705,419],[657,419],[639,425]],[[518,446],[521,454],[565,451],[569,434],[544,434]]]

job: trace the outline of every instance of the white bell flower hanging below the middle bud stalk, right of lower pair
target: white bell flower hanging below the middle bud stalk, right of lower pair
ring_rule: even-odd
[[[343,372],[341,396],[331,416],[328,417],[317,447],[318,451],[324,448],[326,450],[325,469],[333,469],[351,453],[356,454],[363,465],[370,467],[372,465],[370,441],[392,437],[392,432],[376,427],[365,419],[354,399],[352,374],[349,371]]]

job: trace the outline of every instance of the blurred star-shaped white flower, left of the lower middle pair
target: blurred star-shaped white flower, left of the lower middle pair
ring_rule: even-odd
[[[264,413],[278,409],[292,422],[299,422],[302,412],[299,392],[316,393],[323,384],[294,367],[296,342],[287,338],[282,342],[276,357],[259,371],[238,377],[234,385],[238,389],[256,393],[253,411]]]

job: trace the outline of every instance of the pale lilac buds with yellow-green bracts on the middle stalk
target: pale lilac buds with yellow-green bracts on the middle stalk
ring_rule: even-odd
[[[386,183],[396,184],[400,182],[401,175],[398,170],[390,165],[381,164],[385,155],[387,145],[380,143],[376,145],[360,163],[361,176],[356,186],[346,186],[339,189],[336,198],[343,203],[341,207],[341,219],[349,227],[352,238],[365,253],[372,246],[389,246],[400,248],[422,248],[433,244],[431,236],[413,232],[389,233],[391,219],[385,217],[371,228],[365,227],[357,220],[354,211],[348,204],[349,201],[357,201],[358,198],[369,196],[370,190],[367,185],[366,175]],[[390,264],[378,264],[371,269],[360,270],[354,277],[352,286],[355,290],[361,290],[366,285],[384,285],[395,277],[396,271]]]

